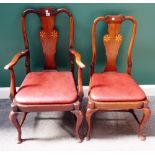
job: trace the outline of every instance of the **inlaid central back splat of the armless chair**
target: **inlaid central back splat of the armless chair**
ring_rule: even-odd
[[[123,37],[120,34],[120,26],[122,21],[122,16],[109,16],[106,19],[108,33],[103,37],[103,43],[106,49],[107,57],[105,71],[117,71],[116,60],[123,40]]]

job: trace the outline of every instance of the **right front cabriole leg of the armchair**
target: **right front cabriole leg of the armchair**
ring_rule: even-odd
[[[80,127],[81,127],[81,124],[82,124],[83,114],[82,114],[81,110],[73,110],[71,112],[76,116],[75,135],[76,135],[77,141],[79,143],[81,143],[82,138],[80,137],[79,130],[80,130]]]

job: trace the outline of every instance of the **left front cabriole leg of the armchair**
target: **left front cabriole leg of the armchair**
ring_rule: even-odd
[[[20,144],[22,142],[21,139],[21,126],[19,125],[18,119],[17,119],[18,112],[11,111],[9,114],[9,119],[12,122],[12,124],[15,126],[18,132],[18,138],[17,143]]]

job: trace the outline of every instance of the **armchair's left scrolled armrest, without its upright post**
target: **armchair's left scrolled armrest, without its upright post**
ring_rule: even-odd
[[[5,70],[11,70],[11,69],[16,65],[16,63],[18,62],[18,60],[19,60],[20,58],[22,58],[23,56],[26,56],[27,54],[28,54],[28,49],[23,50],[23,51],[17,53],[17,54],[13,57],[13,59],[10,61],[10,63],[7,64],[7,65],[4,67],[4,69],[5,69]]]

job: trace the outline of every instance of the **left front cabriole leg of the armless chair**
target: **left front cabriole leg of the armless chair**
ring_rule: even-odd
[[[90,129],[91,129],[91,118],[95,112],[97,112],[97,109],[87,109],[86,111],[86,121],[87,121],[87,133],[85,140],[90,139]]]

